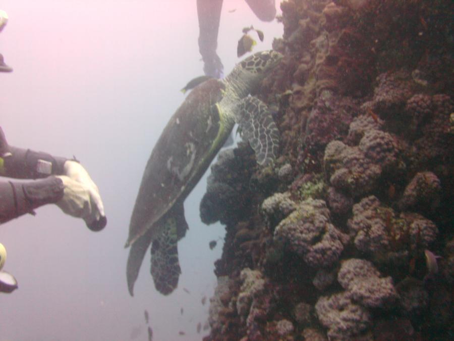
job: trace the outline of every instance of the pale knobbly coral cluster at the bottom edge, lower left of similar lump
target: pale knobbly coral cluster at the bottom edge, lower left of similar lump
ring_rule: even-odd
[[[329,339],[351,340],[371,322],[367,308],[355,304],[349,293],[322,296],[315,304],[315,311],[322,325],[328,328]]]

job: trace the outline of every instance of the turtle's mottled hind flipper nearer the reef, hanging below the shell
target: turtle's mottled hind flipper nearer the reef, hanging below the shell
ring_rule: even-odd
[[[163,224],[163,229],[151,245],[150,272],[156,290],[168,295],[177,287],[181,274],[177,243],[188,229],[183,203],[176,205],[157,223]]]

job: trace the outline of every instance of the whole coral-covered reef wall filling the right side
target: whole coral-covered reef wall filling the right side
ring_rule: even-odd
[[[226,225],[204,340],[454,339],[454,3],[281,9],[279,158],[223,151],[201,202]]]

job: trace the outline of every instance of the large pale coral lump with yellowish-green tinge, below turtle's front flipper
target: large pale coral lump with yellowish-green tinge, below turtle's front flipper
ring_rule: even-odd
[[[279,223],[274,238],[283,238],[308,265],[327,267],[337,261],[348,236],[330,223],[323,200],[308,199]]]

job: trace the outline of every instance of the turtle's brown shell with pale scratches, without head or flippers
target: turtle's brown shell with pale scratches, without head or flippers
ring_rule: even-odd
[[[195,87],[162,131],[142,177],[127,246],[188,196],[229,136],[232,126],[215,106],[224,88],[217,79]]]

